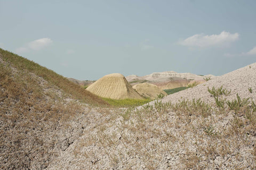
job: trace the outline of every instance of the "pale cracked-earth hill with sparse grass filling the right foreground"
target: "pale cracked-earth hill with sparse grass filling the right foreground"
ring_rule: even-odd
[[[236,113],[217,107],[207,91],[223,86],[231,90],[223,99],[238,94],[255,103],[255,73],[256,63],[119,115],[91,111],[97,122],[47,169],[256,169],[252,104]],[[194,98],[210,105],[169,103]]]

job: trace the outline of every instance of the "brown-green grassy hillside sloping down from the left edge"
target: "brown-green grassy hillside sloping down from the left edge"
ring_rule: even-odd
[[[77,118],[87,116],[91,106],[108,104],[52,70],[0,49],[0,169],[46,168],[81,135],[86,121]]]

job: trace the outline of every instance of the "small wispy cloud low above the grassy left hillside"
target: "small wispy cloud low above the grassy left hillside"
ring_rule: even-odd
[[[50,38],[41,38],[34,41],[31,41],[30,43],[27,43],[26,45],[19,47],[15,50],[17,53],[26,53],[31,50],[41,50],[46,46],[49,46],[53,41]]]

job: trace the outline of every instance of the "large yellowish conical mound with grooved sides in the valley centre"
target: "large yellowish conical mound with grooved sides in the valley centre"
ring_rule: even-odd
[[[105,75],[86,90],[100,97],[110,99],[143,99],[119,73]]]

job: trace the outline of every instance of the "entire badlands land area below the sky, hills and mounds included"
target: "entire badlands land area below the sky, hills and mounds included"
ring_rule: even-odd
[[[0,70],[0,169],[256,168],[256,63],[78,81],[0,49]]]

